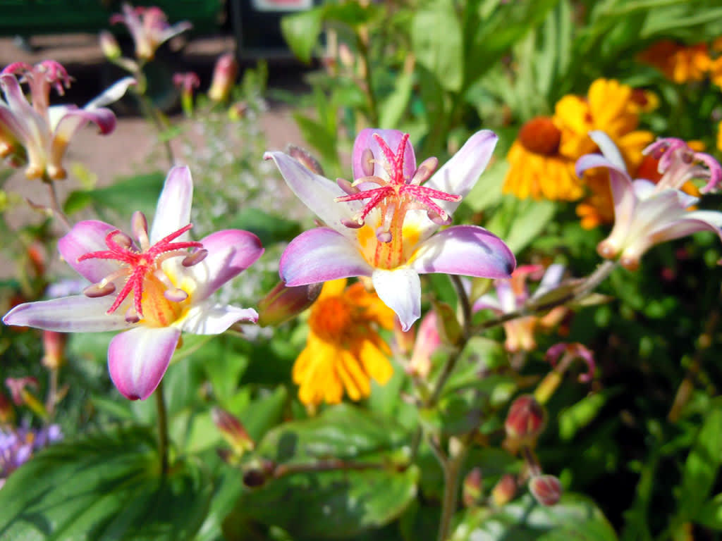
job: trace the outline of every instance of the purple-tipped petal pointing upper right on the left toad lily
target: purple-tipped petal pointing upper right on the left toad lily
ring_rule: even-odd
[[[197,299],[205,299],[231,278],[238,276],[264,252],[261,240],[256,235],[240,229],[209,234],[201,243],[208,250],[208,255],[186,270],[201,284],[193,294]]]

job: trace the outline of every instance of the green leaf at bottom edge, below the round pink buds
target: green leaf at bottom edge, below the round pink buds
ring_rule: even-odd
[[[565,494],[557,505],[544,507],[526,495],[488,514],[472,509],[452,540],[479,541],[616,541],[617,534],[593,501]]]

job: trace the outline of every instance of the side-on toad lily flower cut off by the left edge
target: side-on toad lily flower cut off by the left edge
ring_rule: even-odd
[[[32,103],[22,93],[20,82],[30,87]],[[101,135],[113,131],[116,115],[104,106],[123,97],[134,83],[132,77],[121,79],[82,109],[76,105],[50,107],[51,87],[64,94],[70,85],[65,68],[51,60],[35,66],[10,64],[0,72],[5,95],[5,100],[0,100],[0,157],[17,165],[27,160],[25,176],[29,179],[64,179],[63,157],[72,136],[89,122],[97,125]]]

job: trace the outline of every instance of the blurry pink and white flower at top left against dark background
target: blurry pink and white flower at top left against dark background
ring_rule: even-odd
[[[144,61],[152,60],[162,43],[193,27],[188,21],[169,25],[168,17],[157,6],[133,7],[123,4],[122,9],[123,13],[110,17],[110,24],[122,22],[128,27],[135,43],[136,56]]]

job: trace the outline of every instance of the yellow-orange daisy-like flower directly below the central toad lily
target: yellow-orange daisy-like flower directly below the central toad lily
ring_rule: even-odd
[[[323,284],[310,309],[308,341],[293,365],[293,381],[304,404],[341,402],[371,392],[370,380],[385,384],[393,374],[391,353],[378,327],[391,330],[396,315],[360,282]]]

